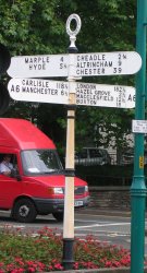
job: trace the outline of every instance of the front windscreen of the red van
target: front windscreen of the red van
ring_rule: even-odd
[[[22,152],[25,175],[45,175],[63,169],[56,150],[27,150]]]

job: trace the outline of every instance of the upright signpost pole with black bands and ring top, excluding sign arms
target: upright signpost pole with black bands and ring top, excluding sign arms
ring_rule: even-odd
[[[76,21],[75,31],[71,31],[71,21]],[[75,46],[76,35],[81,29],[81,19],[77,14],[72,14],[66,21],[66,32],[70,35],[71,45],[69,47],[69,105],[68,105],[68,127],[66,127],[66,155],[65,155],[65,193],[64,193],[64,222],[63,222],[63,266],[64,270],[73,269],[73,244],[74,244],[74,123],[76,97],[73,88],[74,78],[74,54],[77,52]]]

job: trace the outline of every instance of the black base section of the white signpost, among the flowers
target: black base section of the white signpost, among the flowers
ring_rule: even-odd
[[[71,238],[63,238],[63,260],[62,265],[64,270],[72,270],[73,269],[73,245],[74,239]]]

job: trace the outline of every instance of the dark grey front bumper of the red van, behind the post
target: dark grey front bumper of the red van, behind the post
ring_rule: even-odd
[[[64,200],[63,199],[40,199],[33,198],[33,201],[36,205],[38,214],[49,214],[54,212],[63,212]],[[76,202],[79,201],[79,202]],[[84,199],[75,199],[75,209],[81,209],[87,206],[90,202],[90,198],[86,197]]]

